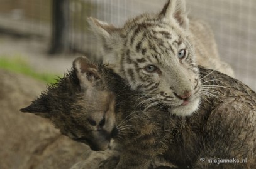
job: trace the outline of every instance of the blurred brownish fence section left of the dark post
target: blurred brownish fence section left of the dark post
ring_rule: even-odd
[[[50,38],[50,0],[0,0],[0,29]]]

